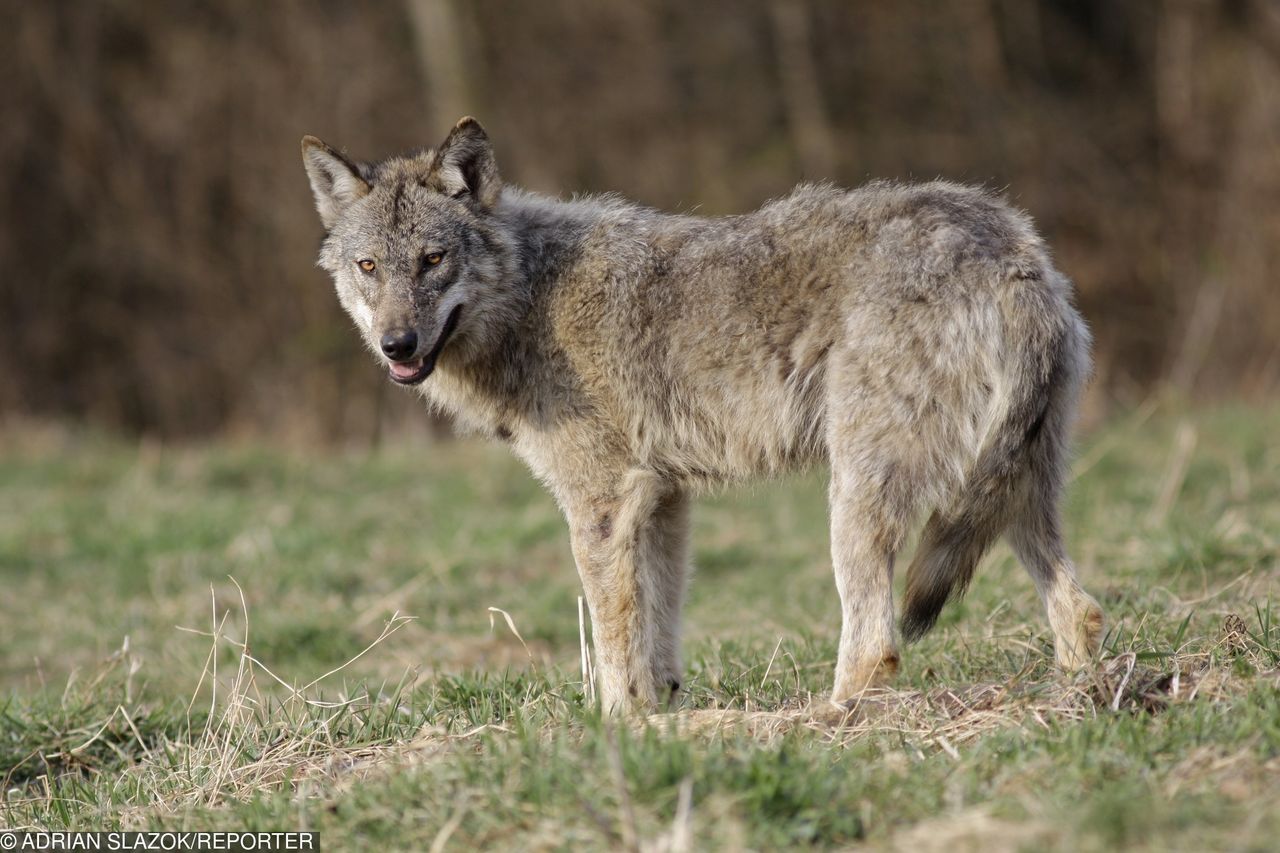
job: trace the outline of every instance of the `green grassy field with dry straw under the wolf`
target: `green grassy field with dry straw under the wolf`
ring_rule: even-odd
[[[844,725],[824,480],[703,501],[689,693],[584,698],[558,512],[506,451],[0,442],[0,826],[328,849],[1275,849],[1280,411],[1152,406],[1068,506],[1103,660],[1009,551]],[[497,608],[497,610],[494,610]],[[518,635],[517,635],[518,631]]]

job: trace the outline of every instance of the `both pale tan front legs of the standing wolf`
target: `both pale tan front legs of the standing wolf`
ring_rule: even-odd
[[[591,610],[600,702],[611,713],[655,707],[680,686],[687,500],[634,469],[608,494],[582,496],[567,510]]]

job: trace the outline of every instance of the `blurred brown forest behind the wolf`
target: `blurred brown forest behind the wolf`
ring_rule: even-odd
[[[984,183],[1075,279],[1096,402],[1280,387],[1276,0],[0,9],[6,418],[424,429],[314,265],[298,140],[372,159],[462,114],[511,182],[664,209],[739,213],[805,178]]]

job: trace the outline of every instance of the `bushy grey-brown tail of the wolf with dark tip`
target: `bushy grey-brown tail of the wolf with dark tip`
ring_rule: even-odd
[[[1057,279],[1048,268],[1043,277]],[[997,355],[986,438],[963,484],[924,525],[906,570],[902,637],[927,634],[951,597],[964,593],[978,561],[1005,530],[1039,442],[1065,441],[1088,371],[1088,332],[1062,291],[1041,275],[997,287],[1006,333]],[[1065,284],[1065,282],[1064,282]]]

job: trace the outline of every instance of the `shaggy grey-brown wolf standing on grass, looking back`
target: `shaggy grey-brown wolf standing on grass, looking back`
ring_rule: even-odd
[[[1097,653],[1059,514],[1089,333],[1021,211],[942,181],[801,184],[724,218],[558,200],[503,183],[472,118],[378,163],[308,136],[302,160],[319,264],[390,380],[556,497],[609,711],[680,689],[691,497],[819,464],[835,702],[899,669],[893,564],[924,512],[908,642],[1004,534],[1057,663]]]

